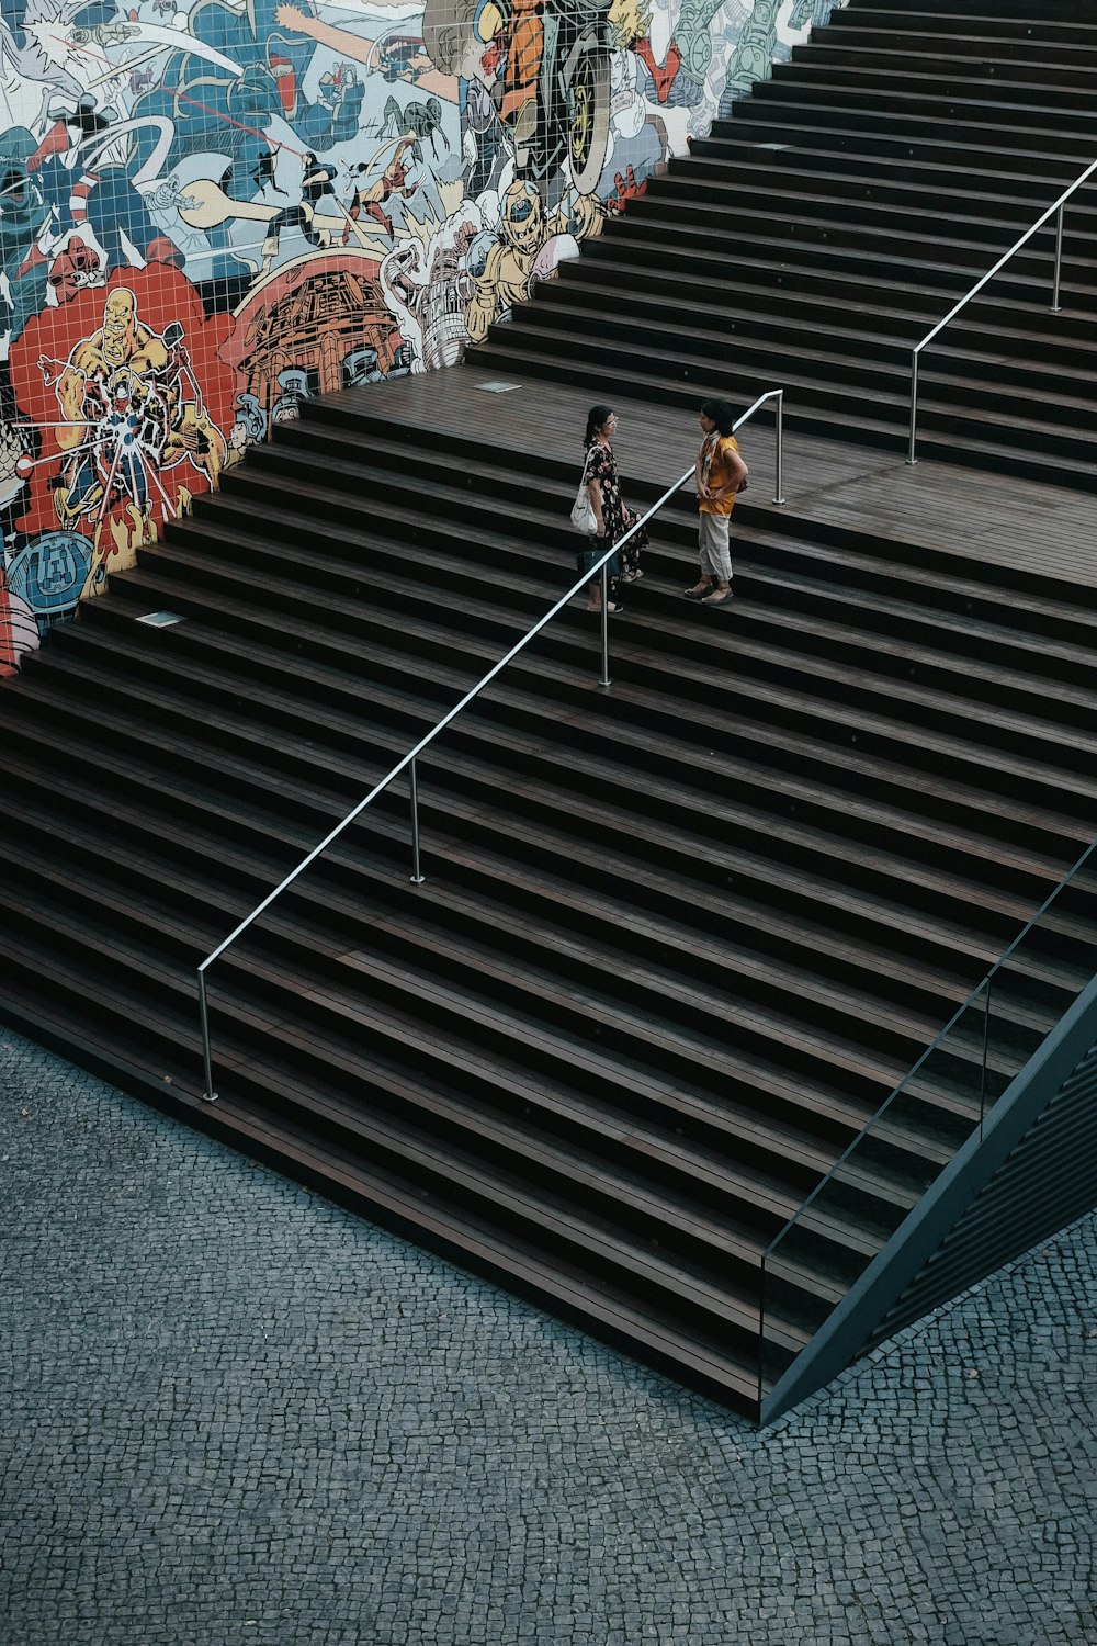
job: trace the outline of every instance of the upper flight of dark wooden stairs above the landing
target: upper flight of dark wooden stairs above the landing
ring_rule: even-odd
[[[972,15],[979,12],[987,15]],[[475,359],[905,449],[911,349],[1097,160],[1097,13],[852,0]],[[1097,181],[928,347],[919,451],[1097,489]]]

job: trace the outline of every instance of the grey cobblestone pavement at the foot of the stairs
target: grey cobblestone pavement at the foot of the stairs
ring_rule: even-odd
[[[3,1646],[1097,1646],[1097,1218],[766,1434],[0,1029]]]

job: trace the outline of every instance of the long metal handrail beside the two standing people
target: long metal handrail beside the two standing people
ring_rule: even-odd
[[[783,504],[785,502],[785,494],[781,491],[781,481],[783,481],[783,472],[785,472],[783,471],[783,464],[785,464],[785,390],[783,388],[768,388],[766,393],[758,395],[758,398],[755,400],[755,403],[752,407],[748,407],[740,418],[735,420],[735,423],[734,423],[732,428],[734,430],[740,430],[743,426],[743,423],[747,423],[755,415],[755,412],[758,412],[758,408],[763,407],[768,400],[776,400],[776,449],[775,449],[775,474],[773,474],[773,502],[775,504]],[[426,747],[429,747],[429,744],[434,742],[434,739],[437,736],[441,736],[441,732],[446,731],[446,728],[451,724],[451,721],[457,719],[457,716],[462,713],[462,709],[465,709],[469,706],[469,703],[474,701],[474,698],[480,696],[480,693],[484,691],[484,688],[488,686],[492,683],[492,680],[495,680],[495,677],[498,673],[502,673],[503,668],[507,668],[507,665],[511,662],[511,658],[518,657],[518,653],[525,650],[525,647],[530,644],[530,640],[536,639],[536,635],[541,632],[541,629],[544,629],[553,621],[553,617],[556,617],[556,614],[561,612],[564,609],[564,606],[567,606],[576,597],[576,594],[579,594],[582,589],[586,589],[586,586],[590,583],[590,578],[595,573],[602,574],[602,675],[599,678],[599,685],[600,686],[607,686],[607,688],[613,685],[613,681],[610,680],[610,675],[609,675],[609,655],[610,655],[610,642],[609,642],[609,606],[610,606],[610,602],[609,602],[609,570],[607,570],[609,563],[613,558],[613,555],[617,555],[620,551],[622,545],[627,543],[628,538],[633,537],[636,532],[640,532],[648,523],[648,520],[651,520],[660,512],[660,509],[666,502],[669,502],[669,499],[674,495],[674,492],[681,491],[681,487],[689,479],[692,479],[692,474],[694,474],[694,464],[691,463],[689,467],[686,469],[686,472],[681,476],[681,479],[674,481],[674,484],[669,487],[669,491],[663,492],[663,495],[660,497],[660,500],[656,504],[653,504],[651,509],[648,509],[648,512],[645,515],[641,515],[635,522],[635,525],[632,525],[628,528],[628,532],[625,532],[625,535],[620,537],[617,540],[617,543],[613,543],[612,548],[605,550],[605,553],[602,555],[602,558],[599,560],[599,563],[595,566],[592,566],[590,571],[586,571],[582,574],[582,578],[579,578],[579,581],[574,583],[567,589],[567,594],[561,596],[561,599],[556,601],[556,606],[553,606],[544,614],[544,617],[541,617],[533,625],[533,629],[528,630],[528,634],[523,634],[521,640],[518,640],[515,645],[511,645],[510,652],[507,652],[505,657],[500,657],[498,663],[495,663],[493,668],[488,668],[488,672],[484,677],[484,680],[477,681],[477,685],[472,686],[470,691],[465,691],[465,695],[461,700],[461,703],[454,704],[454,708],[449,709],[449,713],[444,714],[442,719],[436,726],[433,726],[431,731],[428,731],[428,734],[424,737],[419,739],[419,742],[416,742],[414,749],[410,749],[408,754],[405,754],[403,760],[398,760],[396,765],[393,765],[391,772],[386,777],[382,777],[380,783],[377,783],[368,792],[368,795],[365,797],[365,800],[360,800],[359,805],[354,808],[354,811],[349,811],[347,816],[342,820],[342,823],[337,823],[336,828],[331,831],[331,835],[326,835],[324,839],[319,843],[319,846],[314,846],[312,851],[308,854],[308,858],[303,858],[301,863],[296,866],[296,869],[293,869],[293,872],[288,874],[285,877],[285,881],[281,881],[275,887],[273,892],[268,892],[268,895],[263,899],[263,902],[258,904],[258,907],[253,909],[252,914],[247,915],[247,918],[243,918],[240,922],[240,925],[235,928],[235,932],[230,932],[229,937],[224,940],[224,943],[219,943],[217,948],[212,951],[212,955],[206,956],[206,960],[197,968],[197,1006],[199,1006],[199,1019],[201,1019],[201,1025],[202,1025],[202,1063],[204,1063],[204,1072],[206,1072],[206,1090],[204,1090],[202,1096],[204,1096],[204,1100],[207,1103],[215,1103],[217,1101],[217,1093],[214,1091],[214,1067],[212,1067],[212,1055],[211,1055],[211,1045],[209,1045],[209,1002],[207,1002],[207,997],[206,997],[206,971],[207,971],[207,968],[212,966],[215,960],[220,960],[220,956],[225,953],[225,950],[232,943],[235,943],[235,940],[243,932],[247,932],[247,928],[252,925],[252,922],[258,920],[258,917],[263,914],[263,910],[270,909],[270,905],[275,902],[275,899],[281,897],[281,894],[286,890],[286,887],[293,886],[293,882],[296,881],[296,877],[299,874],[303,874],[311,863],[316,863],[316,859],[321,856],[321,853],[327,851],[327,848],[331,846],[331,843],[334,839],[337,839],[339,835],[342,835],[342,831],[345,828],[349,828],[350,823],[354,823],[355,818],[359,818],[365,811],[365,808],[370,805],[370,802],[377,800],[377,797],[382,795],[390,787],[390,783],[396,777],[400,777],[401,772],[405,772],[408,769],[410,769],[410,772],[408,772],[408,782],[410,782],[408,800],[410,800],[410,808],[411,808],[411,876],[410,876],[410,879],[411,879],[413,886],[421,886],[423,884],[423,881],[426,879],[426,876],[421,872],[421,864],[419,864],[419,792],[418,792],[416,764],[414,764],[416,759],[419,757],[419,754],[423,754],[423,751]]]

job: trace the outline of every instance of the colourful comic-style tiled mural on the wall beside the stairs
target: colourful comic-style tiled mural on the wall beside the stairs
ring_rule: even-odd
[[[0,0],[0,670],[309,395],[456,362],[844,0]]]

